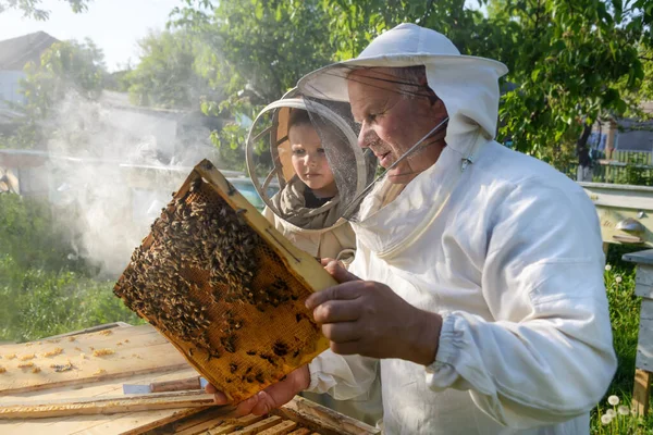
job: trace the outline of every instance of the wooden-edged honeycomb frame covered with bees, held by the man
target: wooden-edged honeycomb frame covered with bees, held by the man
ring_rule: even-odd
[[[304,302],[334,284],[205,160],[136,248],[114,293],[239,401],[328,348]]]

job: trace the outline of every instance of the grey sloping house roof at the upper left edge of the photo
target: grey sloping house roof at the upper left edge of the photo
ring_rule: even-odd
[[[23,71],[29,62],[40,62],[40,55],[59,39],[36,32],[0,41],[0,70]]]

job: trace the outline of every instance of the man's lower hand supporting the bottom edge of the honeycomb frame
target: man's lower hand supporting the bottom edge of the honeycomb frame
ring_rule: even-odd
[[[257,393],[248,399],[243,400],[236,408],[238,415],[263,415],[275,408],[280,408],[291,401],[299,391],[308,388],[310,384],[310,373],[308,365],[303,365],[299,369],[288,373],[285,380],[270,385],[262,391]],[[206,386],[206,391],[212,394],[217,405],[227,405],[229,399],[224,393],[219,391],[211,384]]]

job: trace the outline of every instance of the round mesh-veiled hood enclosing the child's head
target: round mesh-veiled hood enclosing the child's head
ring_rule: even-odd
[[[377,165],[357,136],[346,103],[313,98],[307,107],[292,90],[266,107],[246,145],[249,174],[266,206],[300,229],[343,224],[343,211],[371,183]]]

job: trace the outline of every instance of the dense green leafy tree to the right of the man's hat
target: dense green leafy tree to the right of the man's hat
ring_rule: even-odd
[[[507,79],[517,86],[504,96],[500,137],[552,163],[576,138],[579,175],[588,174],[592,124],[634,110],[630,97],[644,78],[639,50],[650,39],[653,2],[497,0],[491,7],[491,24],[519,29],[519,50],[507,62]]]

